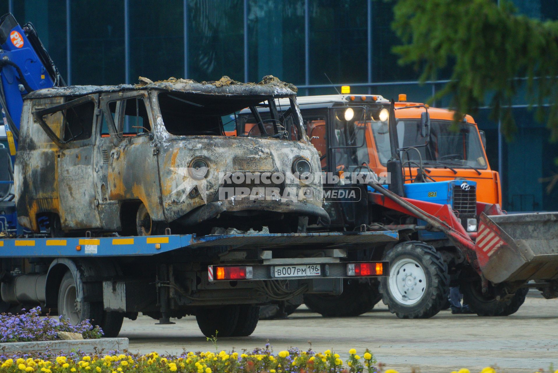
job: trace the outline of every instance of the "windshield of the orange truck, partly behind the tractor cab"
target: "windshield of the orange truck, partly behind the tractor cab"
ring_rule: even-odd
[[[391,157],[387,122],[369,123],[371,123],[379,161],[386,165]],[[405,166],[410,164],[411,167],[416,167],[422,158],[422,162],[430,167],[443,164],[454,168],[487,169],[487,161],[474,125],[464,122],[455,124],[452,121],[436,119],[432,119],[430,123],[429,144],[416,148],[420,152],[420,157],[413,149],[403,153],[401,159]],[[420,135],[420,119],[397,119],[397,135],[402,148],[422,145],[427,140]]]

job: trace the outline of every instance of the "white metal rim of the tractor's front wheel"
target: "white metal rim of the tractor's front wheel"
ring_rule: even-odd
[[[397,260],[389,274],[389,292],[393,299],[402,305],[413,305],[424,297],[426,290],[426,273],[414,259]]]

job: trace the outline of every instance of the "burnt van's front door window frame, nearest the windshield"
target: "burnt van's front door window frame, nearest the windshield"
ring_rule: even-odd
[[[151,115],[151,102],[150,102],[150,97],[148,92],[146,91],[131,91],[131,92],[116,92],[116,93],[112,93],[109,95],[106,95],[104,97],[101,98],[100,101],[100,106],[102,108],[103,111],[103,115],[106,118],[107,124],[108,124],[108,129],[109,129],[109,134],[110,137],[112,138],[117,138],[118,141],[122,141],[124,140],[124,138],[126,138],[125,136],[123,136],[123,130],[124,130],[124,116],[125,116],[125,110],[123,110],[123,108],[125,109],[125,106],[122,104],[125,101],[129,100],[129,99],[133,99],[133,98],[141,98],[143,99],[143,103],[145,104],[145,108],[146,108],[146,112],[147,112],[147,120],[149,121],[149,125],[151,127],[151,131],[149,132],[144,132],[144,133],[152,133],[155,134],[154,131],[154,121]],[[115,113],[114,113],[114,117],[112,116],[112,113],[110,112],[109,109],[109,104],[116,102],[116,109],[115,109]],[[117,126],[118,124],[118,126]],[[102,125],[102,123],[100,124]],[[98,129],[98,135],[100,135],[101,133],[101,128]]]

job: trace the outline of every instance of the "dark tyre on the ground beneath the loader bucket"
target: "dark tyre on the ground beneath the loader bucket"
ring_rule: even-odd
[[[469,308],[479,316],[509,316],[516,313],[525,302],[528,291],[527,288],[520,288],[516,290],[513,297],[496,300],[492,294],[482,293],[479,281],[461,284],[463,304],[468,304]]]

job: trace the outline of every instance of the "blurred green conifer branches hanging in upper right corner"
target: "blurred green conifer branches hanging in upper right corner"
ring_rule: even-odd
[[[398,0],[393,12],[393,29],[404,43],[394,48],[401,64],[415,64],[423,82],[452,69],[435,98],[450,97],[456,120],[488,103],[511,138],[510,106],[526,84],[527,103],[537,105],[537,119],[546,120],[551,140],[558,140],[557,21],[517,15],[507,0]]]

